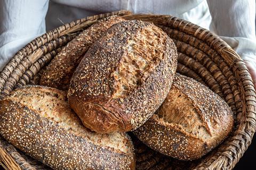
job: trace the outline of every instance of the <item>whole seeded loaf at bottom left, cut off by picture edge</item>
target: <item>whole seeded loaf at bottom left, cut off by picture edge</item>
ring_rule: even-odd
[[[126,133],[97,134],[71,111],[63,91],[27,86],[0,101],[0,133],[53,169],[134,169]]]

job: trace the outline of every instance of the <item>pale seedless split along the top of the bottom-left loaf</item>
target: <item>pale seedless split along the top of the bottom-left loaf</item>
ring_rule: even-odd
[[[115,152],[132,154],[129,136],[125,133],[98,134],[85,128],[67,103],[66,92],[41,86],[25,86],[14,90],[5,99],[28,106],[42,117],[57,123],[60,128],[87,139],[94,145],[112,148]]]

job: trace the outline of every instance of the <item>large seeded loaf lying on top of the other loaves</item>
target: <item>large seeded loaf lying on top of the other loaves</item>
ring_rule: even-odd
[[[119,22],[85,54],[68,101],[92,131],[131,131],[161,105],[176,69],[177,49],[165,32],[147,22]]]

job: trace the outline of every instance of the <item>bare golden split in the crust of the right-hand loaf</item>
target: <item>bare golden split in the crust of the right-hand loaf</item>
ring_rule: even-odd
[[[177,126],[187,134],[195,135],[198,139],[211,137],[193,103],[174,86],[158,109],[156,116],[160,118],[160,121]]]

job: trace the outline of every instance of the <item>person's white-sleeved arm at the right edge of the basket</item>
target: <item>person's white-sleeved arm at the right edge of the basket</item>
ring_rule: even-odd
[[[256,84],[255,0],[207,0],[212,26],[245,61]]]

